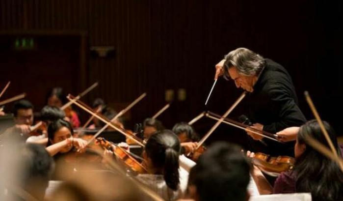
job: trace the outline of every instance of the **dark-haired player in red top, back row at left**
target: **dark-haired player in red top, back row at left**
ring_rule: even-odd
[[[62,107],[67,102],[66,95],[61,87],[51,89],[47,95],[47,104],[49,106]],[[64,110],[66,117],[70,119],[73,128],[80,126],[78,114],[72,109],[71,106]]]

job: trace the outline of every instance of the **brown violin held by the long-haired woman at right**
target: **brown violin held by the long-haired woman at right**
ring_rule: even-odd
[[[281,172],[292,170],[295,159],[289,156],[271,157],[264,153],[255,153],[252,163],[260,170],[271,176],[278,176]]]

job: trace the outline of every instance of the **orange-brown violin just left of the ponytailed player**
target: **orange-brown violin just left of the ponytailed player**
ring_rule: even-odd
[[[136,174],[144,174],[147,173],[148,170],[139,163],[136,159],[134,159],[128,151],[123,149],[120,146],[116,146],[104,138],[97,138],[95,141],[96,144],[100,144],[102,147],[106,148],[107,150],[113,151],[113,154],[121,160],[126,167],[128,167],[132,172]],[[113,148],[115,146],[115,148]]]

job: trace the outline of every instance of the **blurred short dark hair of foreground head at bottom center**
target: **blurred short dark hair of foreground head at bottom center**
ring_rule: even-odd
[[[217,142],[204,152],[188,179],[200,201],[245,201],[250,165],[235,144]]]

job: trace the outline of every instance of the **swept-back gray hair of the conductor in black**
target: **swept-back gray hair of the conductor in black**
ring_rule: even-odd
[[[237,48],[229,52],[224,58],[224,77],[226,79],[230,78],[228,75],[229,68],[234,66],[237,68],[238,74],[258,76],[265,65],[264,57],[246,48]]]

